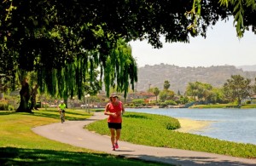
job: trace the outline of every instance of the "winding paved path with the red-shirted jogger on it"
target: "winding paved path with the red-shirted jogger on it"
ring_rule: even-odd
[[[107,118],[102,112],[95,112],[94,116],[84,121],[66,121],[52,123],[33,128],[32,131],[50,140],[57,140],[73,146],[84,147],[113,155],[143,159],[146,161],[172,163],[184,166],[193,165],[244,165],[256,166],[256,159],[229,157],[207,152],[193,152],[164,147],[141,146],[125,141],[119,141],[119,150],[111,150],[110,137],[98,135],[86,129],[84,125],[96,120]],[[106,124],[107,125],[107,124]],[[145,138],[147,139],[147,138]]]

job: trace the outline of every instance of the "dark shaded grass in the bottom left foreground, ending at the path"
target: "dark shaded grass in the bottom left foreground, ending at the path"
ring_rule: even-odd
[[[90,152],[0,148],[0,165],[164,165]]]

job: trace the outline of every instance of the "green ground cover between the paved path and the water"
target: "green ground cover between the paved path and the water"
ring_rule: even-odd
[[[146,113],[125,112],[121,140],[146,146],[170,147],[198,152],[212,152],[233,157],[256,157],[256,145],[212,139],[173,131],[177,120]],[[167,126],[174,125],[167,128]],[[91,123],[86,129],[109,135],[107,121]]]

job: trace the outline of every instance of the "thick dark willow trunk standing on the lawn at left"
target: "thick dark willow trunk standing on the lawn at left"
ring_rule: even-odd
[[[29,112],[32,113],[32,109],[29,106],[29,99],[31,97],[31,90],[26,79],[21,83],[22,87],[20,89],[20,106],[16,112]]]

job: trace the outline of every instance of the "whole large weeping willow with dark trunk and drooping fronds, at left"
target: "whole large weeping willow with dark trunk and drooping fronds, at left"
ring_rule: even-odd
[[[16,6],[11,19],[6,21],[8,24],[1,25],[4,34],[0,39],[4,44],[0,46],[3,56],[13,55],[12,61],[20,71],[17,112],[32,112],[29,106],[32,85],[27,79],[30,76],[36,77],[41,92],[64,100],[74,95],[81,99],[84,86],[93,87],[95,82],[102,86],[106,81],[107,95],[109,87],[116,85],[125,96],[129,84],[134,88],[137,64],[131,56],[131,47],[119,33],[104,30],[106,23],[69,20],[68,14],[56,16],[61,14],[58,9],[61,5],[52,6],[49,2],[20,1]],[[29,12],[24,12],[25,9]],[[111,65],[109,60],[113,60]]]

